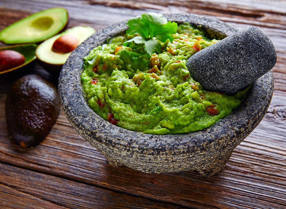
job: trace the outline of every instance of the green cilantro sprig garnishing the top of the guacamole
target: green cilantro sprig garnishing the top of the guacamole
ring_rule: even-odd
[[[149,55],[161,52],[159,41],[165,42],[167,39],[173,41],[172,34],[177,32],[178,24],[167,21],[161,14],[150,12],[143,13],[141,16],[130,18],[126,23],[129,28],[126,35],[139,35],[124,42],[124,46],[134,41],[135,43],[144,43],[144,49]],[[159,40],[159,41],[158,41]]]

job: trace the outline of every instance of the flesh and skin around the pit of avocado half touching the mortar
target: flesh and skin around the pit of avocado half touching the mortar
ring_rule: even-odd
[[[63,64],[72,52],[69,53],[56,53],[52,50],[52,47],[57,39],[64,35],[72,35],[78,39],[78,45],[95,33],[95,30],[87,26],[76,26],[66,31],[55,35],[43,43],[41,43],[36,49],[36,56],[39,64],[47,71],[52,73],[59,73]]]

